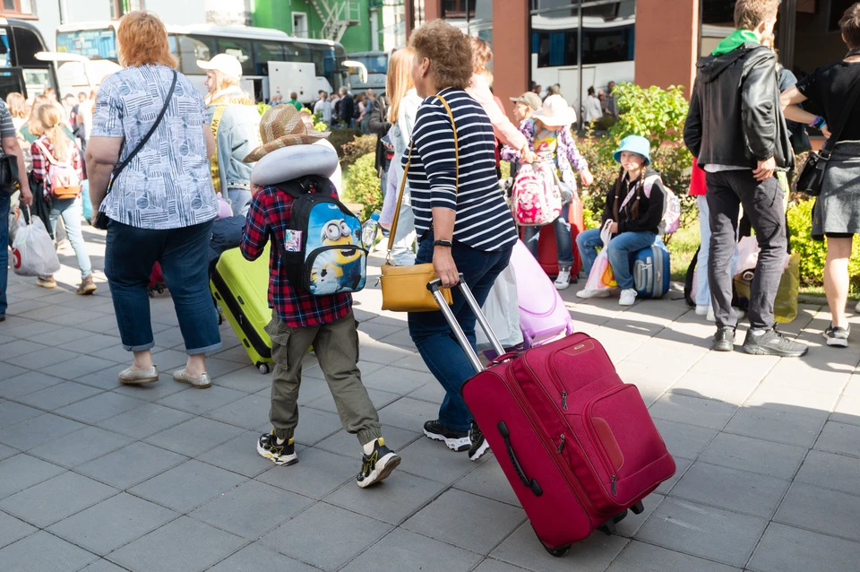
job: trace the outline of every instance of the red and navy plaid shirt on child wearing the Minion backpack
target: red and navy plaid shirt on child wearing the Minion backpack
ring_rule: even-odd
[[[331,196],[338,196],[334,186],[331,186]],[[266,186],[254,195],[240,245],[242,256],[248,260],[259,258],[270,237],[283,244],[292,211],[293,197],[274,186]],[[314,296],[301,288],[293,288],[274,244],[269,256],[269,272],[269,307],[275,308],[281,321],[291,327],[329,324],[352,309],[351,294]]]

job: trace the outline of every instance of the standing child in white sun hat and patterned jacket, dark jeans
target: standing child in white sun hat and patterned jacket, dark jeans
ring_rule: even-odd
[[[582,185],[589,186],[594,180],[589,171],[589,163],[576,149],[576,139],[571,133],[571,124],[576,121],[576,112],[560,95],[551,95],[534,115],[520,123],[520,132],[526,136],[529,151],[538,155],[538,161],[550,165],[555,170],[556,186],[560,187],[562,195],[561,213],[552,221],[555,226],[555,244],[558,250],[558,277],[555,288],[565,290],[571,285],[571,268],[573,265],[573,243],[571,237],[571,222],[568,221],[570,209],[568,205],[576,193],[576,177],[573,169],[580,173]],[[505,146],[502,159],[522,161],[520,152]],[[518,177],[519,178],[519,177]],[[516,192],[517,182],[514,181]],[[540,226],[526,226],[523,231],[523,242],[536,258],[538,257],[538,233]],[[575,279],[576,276],[573,276]]]

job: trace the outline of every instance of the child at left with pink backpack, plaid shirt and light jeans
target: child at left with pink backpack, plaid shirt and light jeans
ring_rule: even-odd
[[[45,195],[34,200],[50,199],[53,232],[56,233],[56,219],[63,217],[65,233],[81,269],[82,281],[76,292],[88,295],[96,291],[96,285],[92,282],[92,264],[81,232],[82,160],[73,139],[65,132],[63,115],[53,105],[43,105],[37,110],[38,122],[32,125],[32,130],[39,138],[30,146],[30,154],[33,178],[43,184]],[[42,288],[56,288],[53,276],[39,276],[36,283]]]

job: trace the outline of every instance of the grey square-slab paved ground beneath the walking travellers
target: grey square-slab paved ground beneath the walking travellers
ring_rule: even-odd
[[[100,269],[103,235],[85,232]],[[812,349],[778,360],[709,351],[712,325],[676,287],[624,310],[566,290],[577,328],[640,387],[678,471],[617,535],[596,533],[555,559],[493,455],[470,463],[421,436],[443,392],[405,316],[379,311],[373,286],[356,296],[359,365],[403,463],[359,490],[357,443],[340,429],[313,354],[301,462],[277,467],[254,445],[268,427],[271,376],[248,363],[229,326],[209,360],[214,386],[176,384],[170,373],[185,360],[176,314],[168,295],[152,299],[162,377],[120,386],[129,356],[107,283],[99,271],[95,296],[74,295],[71,254],[61,250],[57,290],[10,275],[0,570],[807,572],[860,559],[860,344],[821,344],[827,308],[801,306],[782,329]]]

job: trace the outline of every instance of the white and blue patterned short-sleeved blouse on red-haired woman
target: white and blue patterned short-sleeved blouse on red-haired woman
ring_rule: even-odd
[[[170,91],[166,65],[126,67],[107,76],[92,117],[93,137],[125,139],[125,160],[150,130]],[[164,120],[116,179],[101,204],[107,217],[140,229],[167,230],[211,221],[218,212],[202,126],[199,91],[183,74]]]

